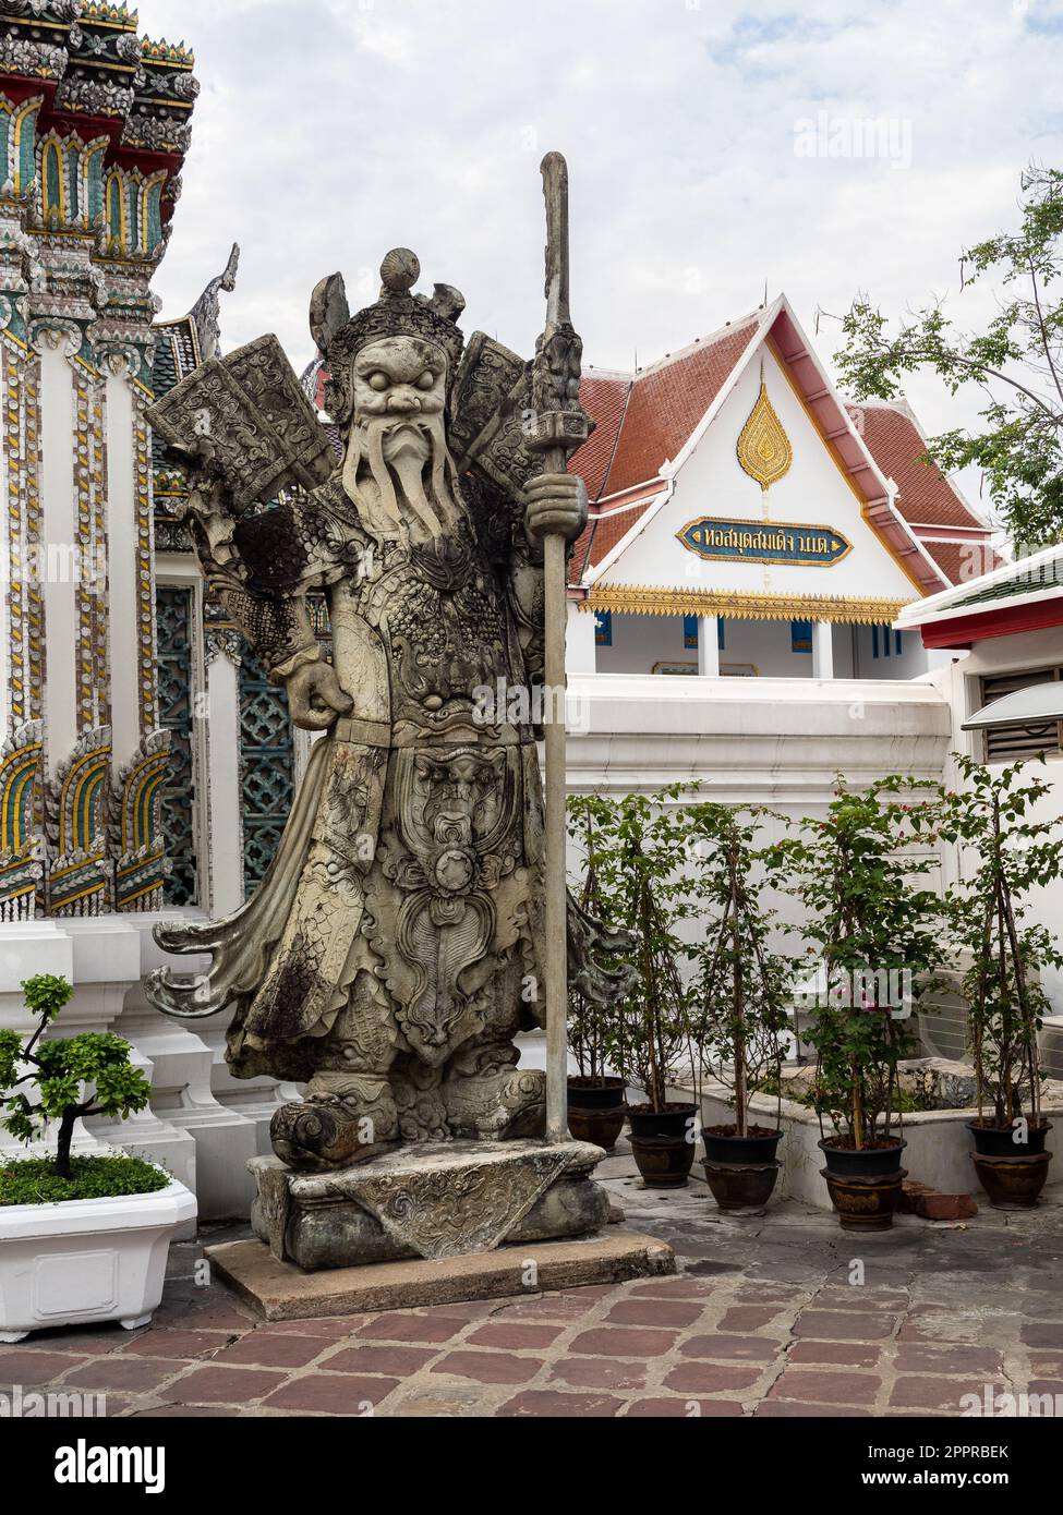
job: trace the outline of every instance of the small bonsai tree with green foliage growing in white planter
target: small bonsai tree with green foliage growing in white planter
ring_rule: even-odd
[[[86,1032],[80,1036],[56,1038],[44,1041],[44,1032],[55,1021],[64,1004],[70,1000],[73,989],[65,979],[53,974],[38,974],[23,983],[26,1007],[38,1017],[38,1026],[23,1042],[18,1032],[0,1030],[0,1100],[5,1100],[6,1115],[0,1124],[18,1141],[32,1142],[44,1133],[47,1121],[58,1121],[58,1139],[55,1159],[39,1159],[50,1168],[59,1183],[71,1185],[76,1177],[80,1182],[99,1183],[97,1171],[86,1173],[86,1159],[71,1162],[70,1142],[74,1135],[74,1124],[83,1115],[118,1115],[127,1120],[136,1110],[143,1110],[152,1095],[152,1086],[140,1070],[129,1062],[129,1042],[111,1032]],[[21,1068],[29,1071],[23,1073]],[[36,1103],[23,1088],[30,1086],[36,1094]],[[85,1094],[83,1086],[89,1085],[93,1092]],[[100,1162],[103,1159],[93,1159]],[[117,1159],[127,1165],[132,1159]],[[35,1164],[14,1164],[15,1170],[26,1170]],[[77,1167],[77,1174],[76,1174]],[[158,1170],[143,1165],[149,1173]],[[5,1170],[8,1173],[9,1170]],[[153,1188],[165,1188],[164,1183],[149,1183],[147,1189],[129,1189],[130,1170],[117,1167],[112,1171],[118,1189],[108,1192],[130,1194],[147,1192]],[[38,1173],[39,1177],[39,1173]],[[11,1185],[33,1183],[23,1171],[14,1179],[5,1179],[8,1192]],[[99,1191],[93,1195],[70,1194],[67,1198],[99,1198]],[[39,1200],[6,1200],[5,1203],[41,1203]]]

